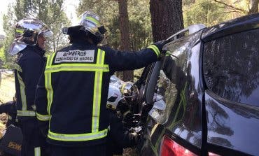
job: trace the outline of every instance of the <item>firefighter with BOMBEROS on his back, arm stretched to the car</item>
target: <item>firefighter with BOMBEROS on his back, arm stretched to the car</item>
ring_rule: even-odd
[[[48,127],[51,155],[105,155],[110,76],[155,62],[162,44],[139,52],[98,47],[99,16],[86,11],[78,26],[63,29],[71,45],[50,55],[36,90],[36,116]],[[43,129],[45,130],[45,129]]]

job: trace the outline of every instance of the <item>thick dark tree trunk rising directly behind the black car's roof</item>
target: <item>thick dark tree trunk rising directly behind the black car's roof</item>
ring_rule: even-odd
[[[154,42],[183,29],[182,0],[151,0],[150,10]]]

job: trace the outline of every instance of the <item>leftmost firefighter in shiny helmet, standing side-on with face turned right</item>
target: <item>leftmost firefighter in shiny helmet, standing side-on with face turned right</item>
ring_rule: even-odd
[[[52,31],[33,18],[20,20],[15,27],[15,41],[10,54],[18,54],[15,64],[17,117],[23,134],[22,155],[45,155],[45,138],[38,128],[34,104],[38,79],[45,64],[45,38]],[[44,154],[43,154],[44,153]]]

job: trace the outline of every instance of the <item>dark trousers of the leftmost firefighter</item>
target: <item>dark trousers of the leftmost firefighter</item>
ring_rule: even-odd
[[[36,118],[19,121],[22,129],[22,156],[48,156],[49,146],[38,128]]]

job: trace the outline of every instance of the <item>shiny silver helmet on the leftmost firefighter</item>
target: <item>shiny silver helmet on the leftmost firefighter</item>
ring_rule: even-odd
[[[52,31],[41,20],[36,18],[24,18],[15,24],[15,40],[10,45],[8,52],[15,55],[25,49],[27,45],[36,45],[38,35],[49,38],[53,35]]]

